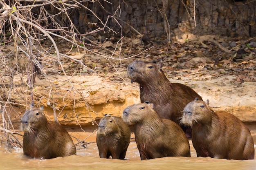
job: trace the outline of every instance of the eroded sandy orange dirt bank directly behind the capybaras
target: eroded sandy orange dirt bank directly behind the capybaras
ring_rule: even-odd
[[[90,126],[106,113],[121,116],[125,107],[140,102],[138,84],[131,84],[126,78],[126,72],[122,72],[122,76],[125,77],[122,82],[112,82],[98,75],[68,77],[70,82],[67,82],[63,76],[49,75],[49,79],[55,79],[54,84],[50,86],[46,79],[37,79],[34,84],[34,100],[36,104],[44,106],[52,120],[53,109],[49,103],[54,102],[61,124]],[[245,122],[256,121],[256,82],[235,84],[235,77],[231,75],[218,78],[185,75],[169,79],[171,82],[186,84],[204,100],[209,99],[213,110],[226,110]],[[15,80],[18,83],[18,76]],[[52,90],[54,88],[56,90]],[[29,90],[25,85],[20,85],[20,88],[13,90],[10,101],[29,106],[29,99]],[[24,106],[9,109],[15,127],[19,126],[20,117],[26,109]]]

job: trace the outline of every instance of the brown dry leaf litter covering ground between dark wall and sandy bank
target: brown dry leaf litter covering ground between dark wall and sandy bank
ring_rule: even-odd
[[[92,51],[100,51],[101,53],[111,54],[117,47],[114,39],[109,39],[102,44],[103,48],[88,46]],[[141,55],[126,60],[113,60],[101,56],[94,55],[90,52],[73,48],[70,50],[68,44],[57,43],[61,52],[67,52],[67,55],[78,60],[82,60],[87,68],[81,67],[81,64],[70,60],[69,58],[61,58],[63,67],[67,75],[90,75],[97,73],[100,76],[108,77],[108,79],[121,81],[122,78],[116,72],[125,72],[126,67],[133,60],[144,60],[148,62],[161,62],[162,69],[167,77],[186,77],[193,75],[196,77],[204,77],[204,79],[213,79],[223,75],[235,75],[234,82],[256,82],[256,43],[246,41],[244,38],[219,38],[198,36],[194,40],[186,40],[183,42],[174,41],[173,44],[159,42],[144,43],[139,38],[123,38],[120,59],[126,59],[132,55],[137,55],[141,51],[146,50]],[[234,44],[237,44],[234,46]],[[50,43],[45,42],[49,51]],[[46,48],[46,47],[45,47]],[[7,56],[11,51],[11,44],[1,47],[2,56]],[[115,57],[119,55],[116,51]],[[9,56],[11,57],[11,56]],[[117,57],[118,58],[118,57]],[[9,58],[11,60],[11,58]],[[28,59],[26,56],[20,57],[21,66],[25,67]],[[41,56],[43,67],[47,70],[47,74],[63,74],[57,62],[52,62],[47,56]],[[50,62],[49,62],[50,61]]]

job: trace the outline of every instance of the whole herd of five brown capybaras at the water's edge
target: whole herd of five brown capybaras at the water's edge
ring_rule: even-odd
[[[99,157],[125,159],[133,126],[141,160],[159,157],[190,157],[192,138],[198,157],[254,159],[249,129],[234,115],[213,111],[192,88],[171,83],[155,62],[134,61],[127,67],[131,82],[139,84],[141,103],[123,110],[122,117],[105,115],[99,122]],[[51,159],[76,154],[68,132],[47,121],[43,107],[32,104],[21,119],[23,153]]]

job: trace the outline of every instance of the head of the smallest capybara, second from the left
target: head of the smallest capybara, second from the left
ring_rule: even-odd
[[[105,114],[101,121],[99,122],[98,132],[99,135],[110,135],[119,132],[120,128],[115,121],[114,116]]]

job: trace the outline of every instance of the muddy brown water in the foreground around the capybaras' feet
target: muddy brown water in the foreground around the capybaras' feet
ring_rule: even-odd
[[[256,124],[246,124],[254,137],[256,143]],[[3,139],[0,145],[0,169],[1,170],[256,170],[256,160],[226,160],[213,159],[210,157],[196,157],[195,149],[192,141],[189,140],[191,147],[191,158],[187,157],[164,157],[151,160],[140,160],[139,151],[134,139],[134,133],[131,134],[130,145],[126,153],[125,160],[103,159],[99,158],[99,152],[96,144],[96,133],[93,131],[96,128],[87,128],[86,132],[77,128],[66,128],[73,137],[74,143],[77,144],[77,139],[87,142],[85,148],[81,145],[76,146],[77,155],[69,157],[58,157],[54,159],[30,159],[23,155],[22,148],[13,148],[11,153],[8,151],[6,141]],[[85,129],[85,128],[84,128]],[[22,139],[22,138],[21,138]],[[22,140],[21,140],[22,141]],[[256,144],[254,145],[256,150]]]

